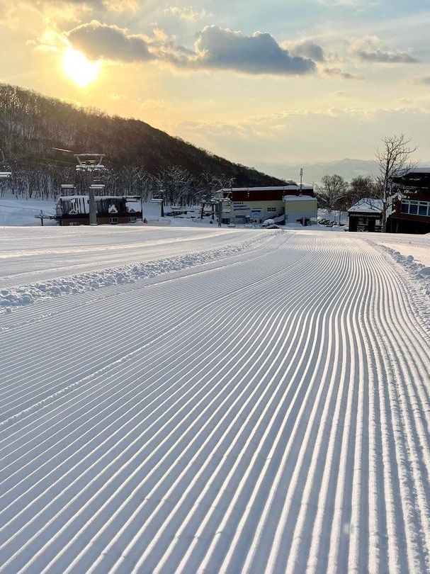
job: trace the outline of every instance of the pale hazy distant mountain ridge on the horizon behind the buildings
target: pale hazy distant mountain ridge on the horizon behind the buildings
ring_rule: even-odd
[[[303,181],[316,184],[324,175],[338,174],[347,181],[356,176],[375,176],[377,172],[376,162],[373,159],[339,159],[335,162],[319,162],[315,164],[270,164],[259,162],[256,167],[264,171],[270,171],[281,179],[297,180],[300,168],[303,168]]]

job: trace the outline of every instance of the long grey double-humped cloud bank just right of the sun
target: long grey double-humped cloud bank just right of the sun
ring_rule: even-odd
[[[316,69],[314,60],[290,55],[268,33],[247,36],[219,26],[203,28],[194,50],[176,45],[164,35],[147,38],[96,20],[70,30],[68,39],[93,59],[159,60],[181,69],[225,69],[246,74],[307,74]]]

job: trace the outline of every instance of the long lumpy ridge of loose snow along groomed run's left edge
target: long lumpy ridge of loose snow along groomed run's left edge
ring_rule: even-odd
[[[89,273],[54,278],[48,281],[39,281],[26,286],[11,289],[0,289],[0,314],[11,313],[13,308],[23,307],[39,301],[94,291],[100,287],[133,283],[137,279],[154,277],[181,269],[188,269],[196,265],[203,265],[215,259],[232,257],[252,245],[254,241],[239,242],[227,247],[210,249],[208,251],[183,254],[176,257],[144,261],[120,267],[90,271]]]

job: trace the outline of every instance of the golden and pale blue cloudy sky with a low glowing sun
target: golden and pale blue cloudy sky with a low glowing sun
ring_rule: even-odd
[[[0,0],[0,81],[242,164],[430,160],[430,0]]]

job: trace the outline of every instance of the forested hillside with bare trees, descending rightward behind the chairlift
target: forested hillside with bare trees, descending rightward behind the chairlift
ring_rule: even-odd
[[[184,199],[220,184],[282,183],[140,120],[107,116],[0,84],[0,149],[11,164],[9,187],[14,193],[52,197],[61,183],[74,178],[74,157],[55,147],[106,154],[106,193],[145,194],[158,187]],[[175,186],[181,189],[174,191]]]

